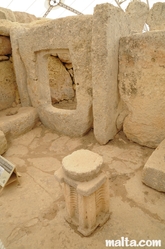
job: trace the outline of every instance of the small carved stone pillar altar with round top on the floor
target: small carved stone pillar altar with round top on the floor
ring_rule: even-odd
[[[109,219],[109,181],[102,172],[103,158],[89,150],[77,150],[62,160],[55,178],[63,183],[66,220],[89,236]]]

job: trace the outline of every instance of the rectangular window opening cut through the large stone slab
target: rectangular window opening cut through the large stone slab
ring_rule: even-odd
[[[69,50],[56,50],[48,56],[48,75],[52,105],[59,109],[75,110],[76,85]]]

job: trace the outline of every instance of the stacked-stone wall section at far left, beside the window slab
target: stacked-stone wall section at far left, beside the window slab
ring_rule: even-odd
[[[0,8],[0,110],[20,103],[13,66],[10,28],[17,22],[36,20],[33,15]]]

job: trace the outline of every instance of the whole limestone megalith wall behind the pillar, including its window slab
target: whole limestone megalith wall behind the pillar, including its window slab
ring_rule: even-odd
[[[0,110],[20,97],[44,125],[69,136],[93,127],[105,144],[123,128],[156,147],[165,138],[163,13],[164,3],[148,10],[140,1],[126,12],[107,3],[93,16],[56,20],[0,8]],[[142,33],[145,23],[151,31]],[[74,109],[56,108],[63,100]]]

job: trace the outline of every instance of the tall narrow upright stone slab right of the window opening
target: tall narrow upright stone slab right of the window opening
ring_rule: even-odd
[[[94,133],[106,144],[117,133],[119,39],[128,35],[125,13],[111,4],[95,7],[92,35]]]

